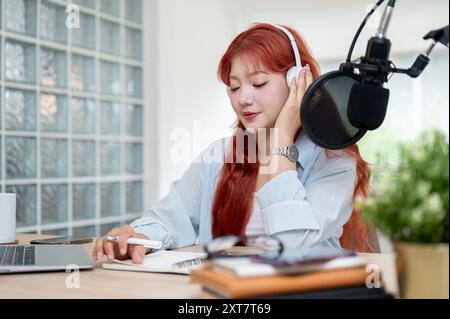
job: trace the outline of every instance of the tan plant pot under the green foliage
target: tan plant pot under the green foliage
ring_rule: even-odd
[[[395,243],[402,298],[446,298],[448,244]]]

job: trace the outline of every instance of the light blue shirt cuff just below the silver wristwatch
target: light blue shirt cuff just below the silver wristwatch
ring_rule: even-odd
[[[259,206],[264,209],[275,203],[304,199],[306,190],[297,171],[287,171],[264,184],[256,196]]]

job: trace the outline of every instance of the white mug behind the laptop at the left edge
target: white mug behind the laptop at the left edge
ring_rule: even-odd
[[[0,244],[16,241],[16,194],[0,193]]]

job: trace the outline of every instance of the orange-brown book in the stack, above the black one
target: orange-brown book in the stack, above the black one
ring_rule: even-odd
[[[341,268],[296,275],[239,277],[214,268],[192,269],[190,280],[226,298],[252,298],[365,285],[365,267]]]

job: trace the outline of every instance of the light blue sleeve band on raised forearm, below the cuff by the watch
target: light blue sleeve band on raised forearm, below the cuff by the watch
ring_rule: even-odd
[[[269,235],[290,230],[319,230],[311,205],[292,200],[274,204],[261,210],[264,229]]]

